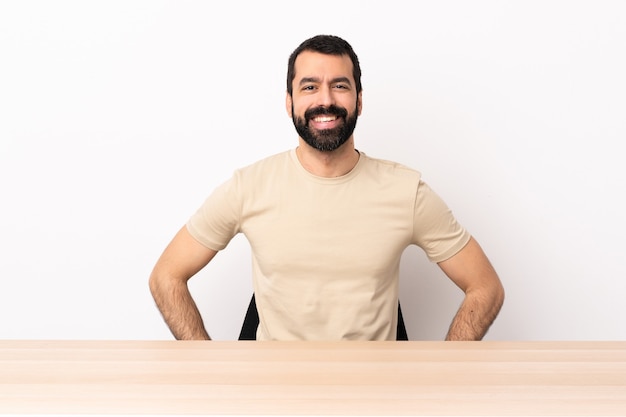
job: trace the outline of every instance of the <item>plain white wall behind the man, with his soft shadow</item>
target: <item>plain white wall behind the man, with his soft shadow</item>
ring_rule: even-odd
[[[319,33],[360,57],[357,147],[420,170],[499,272],[487,339],[626,338],[626,2],[549,0],[0,2],[0,338],[171,339],[152,266],[234,169],[296,145],[287,58]],[[235,339],[245,239],[191,286]],[[460,300],[407,250],[411,339]]]

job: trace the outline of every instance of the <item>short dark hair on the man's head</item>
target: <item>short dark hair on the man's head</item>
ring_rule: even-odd
[[[302,42],[289,56],[287,65],[287,92],[289,95],[293,93],[293,79],[296,77],[296,58],[304,51],[319,52],[326,55],[348,55],[352,61],[352,76],[356,83],[357,94],[361,92],[361,66],[352,46],[339,36],[317,35]]]

